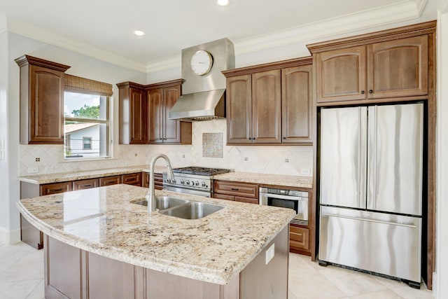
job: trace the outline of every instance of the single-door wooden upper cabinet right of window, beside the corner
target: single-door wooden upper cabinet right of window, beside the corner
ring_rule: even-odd
[[[144,86],[132,82],[117,84],[120,90],[120,144],[146,142],[146,92]]]

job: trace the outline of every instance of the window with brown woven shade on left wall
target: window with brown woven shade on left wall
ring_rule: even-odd
[[[64,158],[109,157],[112,85],[65,76]]]

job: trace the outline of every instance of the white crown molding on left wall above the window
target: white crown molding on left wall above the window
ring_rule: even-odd
[[[92,46],[88,43],[69,39],[62,34],[57,34],[55,32],[50,32],[48,30],[35,27],[28,24],[27,22],[23,22],[22,20],[18,20],[16,18],[8,16],[7,25],[9,32],[20,34],[22,36],[29,37],[30,39],[43,41],[44,43],[48,43],[52,46],[71,50],[78,54],[96,58],[97,60],[116,64],[120,67],[133,69],[134,71],[140,71],[141,73],[146,73],[146,64],[144,63],[130,60],[127,57],[111,53],[108,50]]]

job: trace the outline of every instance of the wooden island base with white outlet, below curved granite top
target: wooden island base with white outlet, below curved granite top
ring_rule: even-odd
[[[135,299],[286,299],[288,296],[288,225],[274,244],[228,284],[180,277],[105,258],[44,236],[45,298]]]

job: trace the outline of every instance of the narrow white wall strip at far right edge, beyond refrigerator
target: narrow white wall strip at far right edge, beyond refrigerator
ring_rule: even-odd
[[[437,18],[437,219],[435,247],[436,298],[448,298],[448,0]]]

